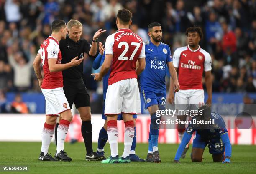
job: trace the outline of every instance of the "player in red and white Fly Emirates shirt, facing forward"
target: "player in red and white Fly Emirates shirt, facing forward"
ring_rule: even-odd
[[[208,99],[206,104],[212,102],[212,59],[210,54],[200,48],[199,42],[202,39],[200,27],[189,27],[186,31],[188,45],[175,50],[173,64],[179,74],[179,92],[173,92],[173,85],[170,85],[168,101],[175,102],[175,107],[179,110],[197,110],[204,104],[204,90],[202,87],[202,75],[205,73],[205,85],[207,88]],[[172,79],[171,79],[172,80]],[[173,84],[173,83],[171,83]],[[186,120],[185,116],[178,115],[178,119]],[[182,140],[185,125],[178,125],[179,139]],[[193,147],[194,148],[194,147]],[[182,154],[185,157],[187,148]]]

